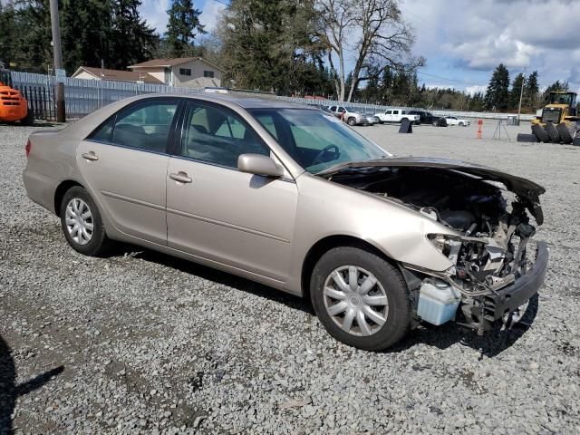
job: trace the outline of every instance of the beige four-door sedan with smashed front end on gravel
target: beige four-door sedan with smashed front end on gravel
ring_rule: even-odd
[[[76,251],[99,256],[119,240],[308,296],[326,330],[361,349],[420,322],[483,333],[546,275],[546,244],[530,244],[541,186],[394,158],[305,106],[140,95],[36,131],[25,152],[28,196]],[[488,181],[513,192],[509,208]]]

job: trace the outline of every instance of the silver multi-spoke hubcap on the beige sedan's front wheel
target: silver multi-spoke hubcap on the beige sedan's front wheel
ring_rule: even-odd
[[[341,266],[324,281],[326,313],[345,333],[367,336],[387,321],[389,301],[382,284],[358,266]]]

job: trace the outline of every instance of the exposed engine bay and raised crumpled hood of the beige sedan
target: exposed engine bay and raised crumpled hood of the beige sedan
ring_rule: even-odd
[[[486,297],[498,295],[533,264],[533,258],[527,257],[528,242],[536,234],[530,219],[536,225],[543,222],[538,195],[544,189],[526,179],[471,165],[449,168],[425,160],[414,166],[412,160],[397,159],[393,163],[367,167],[361,163],[328,179],[401,203],[456,231],[457,236],[428,235],[453,266],[440,274],[419,272],[427,274],[422,275],[423,281],[432,289],[452,287],[449,291],[458,297],[464,324],[482,333],[488,329],[483,319]]]

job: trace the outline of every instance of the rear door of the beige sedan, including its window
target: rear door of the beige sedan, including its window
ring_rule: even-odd
[[[105,121],[77,148],[87,187],[121,232],[167,244],[167,147],[178,99],[135,102]]]

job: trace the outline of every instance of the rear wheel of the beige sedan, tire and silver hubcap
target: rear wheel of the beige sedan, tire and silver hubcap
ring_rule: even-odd
[[[64,237],[75,251],[85,256],[101,256],[111,246],[99,208],[81,186],[67,190],[60,212]]]

